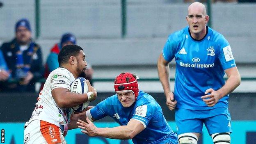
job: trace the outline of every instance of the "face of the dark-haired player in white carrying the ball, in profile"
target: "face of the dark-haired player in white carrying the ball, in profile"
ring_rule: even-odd
[[[87,62],[85,61],[84,51],[80,50],[80,53],[76,58],[77,58],[76,71],[80,77],[83,77],[84,73],[85,73],[86,66],[87,66]]]

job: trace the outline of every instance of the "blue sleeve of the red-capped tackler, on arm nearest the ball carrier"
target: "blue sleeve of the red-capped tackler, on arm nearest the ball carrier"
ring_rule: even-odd
[[[106,117],[108,114],[107,105],[107,99],[101,101],[95,107],[91,108],[89,111],[86,112],[87,117],[95,121]]]

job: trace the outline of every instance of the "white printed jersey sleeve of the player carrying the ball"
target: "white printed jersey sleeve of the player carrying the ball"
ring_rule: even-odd
[[[66,88],[71,90],[71,77],[67,72],[58,71],[53,74],[50,79],[50,88],[51,90],[56,88]]]

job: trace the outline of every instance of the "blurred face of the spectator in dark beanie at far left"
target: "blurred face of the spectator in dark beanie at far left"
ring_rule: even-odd
[[[20,26],[16,31],[16,39],[21,45],[25,45],[30,42],[31,32],[26,27]]]

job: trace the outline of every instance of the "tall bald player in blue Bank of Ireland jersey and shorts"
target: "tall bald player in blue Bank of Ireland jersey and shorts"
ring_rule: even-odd
[[[167,107],[174,110],[180,144],[197,144],[205,124],[214,144],[231,141],[228,98],[240,74],[229,42],[206,24],[206,7],[194,2],[188,7],[188,26],[169,36],[158,59],[158,75]],[[169,62],[175,58],[174,94],[170,89]],[[224,74],[228,79],[224,81]]]

